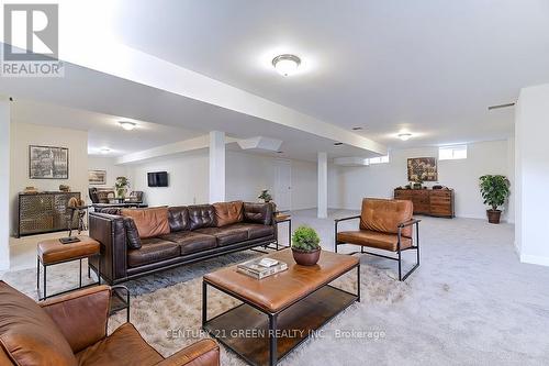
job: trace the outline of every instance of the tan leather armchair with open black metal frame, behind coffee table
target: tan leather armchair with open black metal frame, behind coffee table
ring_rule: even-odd
[[[361,213],[356,217],[335,220],[335,251],[341,244],[360,245],[360,252],[399,262],[399,280],[405,280],[419,267],[419,222],[414,219],[414,206],[407,200],[374,199],[362,200]],[[338,231],[341,221],[360,219],[358,231]],[[415,244],[413,235],[415,225]],[[365,247],[396,253],[397,257],[366,252]],[[415,249],[417,263],[402,276],[402,252]]]

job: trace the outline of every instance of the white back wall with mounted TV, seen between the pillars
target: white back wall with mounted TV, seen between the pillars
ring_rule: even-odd
[[[274,189],[276,158],[226,151],[226,200],[258,201],[261,189]],[[208,202],[209,153],[205,149],[178,157],[158,158],[127,166],[132,189],[143,190],[149,206]],[[166,170],[169,187],[147,187],[147,173]],[[316,207],[316,165],[292,160],[292,209]]]

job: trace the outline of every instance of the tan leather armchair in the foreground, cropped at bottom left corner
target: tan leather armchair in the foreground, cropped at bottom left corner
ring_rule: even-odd
[[[111,289],[98,286],[36,303],[0,281],[0,365],[220,365],[212,340],[164,358],[131,323],[107,335],[110,298]]]

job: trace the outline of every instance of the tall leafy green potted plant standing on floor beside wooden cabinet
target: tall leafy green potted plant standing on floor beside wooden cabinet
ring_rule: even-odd
[[[500,223],[502,210],[498,208],[505,204],[509,197],[511,182],[505,176],[485,175],[480,177],[480,190],[484,204],[491,208],[486,210],[488,221],[490,223]]]

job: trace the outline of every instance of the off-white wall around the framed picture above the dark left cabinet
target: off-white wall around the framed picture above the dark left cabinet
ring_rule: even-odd
[[[59,185],[70,186],[71,191],[88,193],[88,132],[45,125],[11,123],[10,198],[12,232],[16,231],[18,193],[25,187],[58,191]],[[29,145],[67,147],[69,151],[68,179],[30,179]]]

